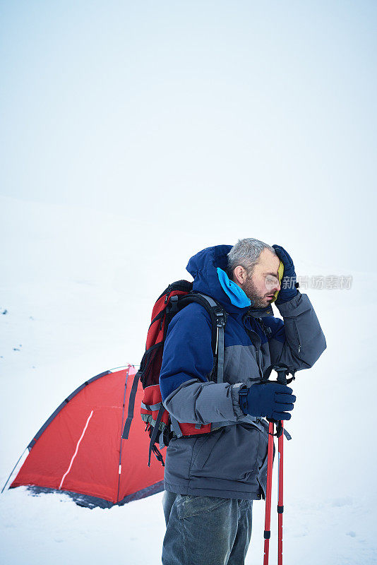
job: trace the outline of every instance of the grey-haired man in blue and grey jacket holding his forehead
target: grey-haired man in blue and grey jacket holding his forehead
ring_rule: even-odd
[[[265,498],[268,422],[263,417],[289,420],[296,400],[292,388],[261,383],[261,376],[277,362],[294,371],[309,369],[325,350],[325,337],[281,246],[249,238],[233,247],[210,247],[193,256],[187,270],[193,290],[227,311],[224,382],[208,380],[210,316],[201,305],[189,304],[169,324],[162,400],[178,422],[195,423],[198,430],[215,422],[217,429],[175,437],[167,448],[162,563],[242,565],[253,500]],[[273,317],[272,302],[283,320]]]

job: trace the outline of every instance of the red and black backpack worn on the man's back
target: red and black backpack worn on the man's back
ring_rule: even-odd
[[[188,304],[196,302],[201,304],[210,314],[212,321],[212,350],[213,370],[209,379],[222,382],[224,372],[224,328],[227,322],[227,313],[213,298],[202,295],[192,290],[193,283],[187,280],[178,280],[172,283],[162,292],[155,302],[152,310],[152,321],[148,329],[145,353],[140,362],[140,369],[133,379],[133,386],[128,403],[128,416],[122,434],[123,439],[128,439],[128,433],[133,419],[133,408],[135,405],[136,391],[140,379],[144,396],[140,407],[140,414],[146,422],[145,432],[149,433],[150,456],[153,451],[157,460],[164,465],[164,460],[155,444],[160,448],[169,445],[169,441],[175,436],[193,436],[208,434],[211,424],[184,424],[177,422],[162,404],[160,391],[160,371],[162,364],[162,352],[170,321],[177,312]]]

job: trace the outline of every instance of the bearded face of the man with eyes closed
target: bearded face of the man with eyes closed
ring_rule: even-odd
[[[276,290],[280,290],[277,268],[279,258],[270,249],[263,249],[253,273],[247,276],[242,290],[251,299],[254,308],[265,308],[271,304]]]

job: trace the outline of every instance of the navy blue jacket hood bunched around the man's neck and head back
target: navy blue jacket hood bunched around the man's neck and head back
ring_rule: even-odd
[[[250,309],[253,310],[253,313],[257,311],[263,313],[266,308],[253,309],[250,306],[245,308],[234,306],[227,293],[222,289],[217,275],[217,267],[227,270],[227,254],[231,249],[232,245],[215,245],[206,247],[191,257],[186,269],[193,277],[193,290],[214,298],[229,314],[246,314]]]

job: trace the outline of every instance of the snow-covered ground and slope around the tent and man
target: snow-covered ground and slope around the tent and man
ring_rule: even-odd
[[[188,278],[188,258],[243,234],[231,236],[220,225],[210,239],[199,228],[175,230],[171,237],[168,225],[121,215],[12,198],[0,198],[0,205],[2,486],[68,393],[105,369],[140,362],[155,297],[173,280]],[[255,230],[249,235],[263,239]],[[280,243],[273,237],[268,243]],[[334,274],[304,259],[302,247],[288,251],[299,275]],[[292,441],[285,443],[289,565],[377,563],[371,331],[377,273],[337,274],[353,275],[351,290],[307,291],[328,349],[294,382],[297,403],[287,426]],[[274,477],[274,496],[276,485]],[[1,563],[158,564],[161,498],[88,510],[64,495],[6,489],[0,496]],[[249,565],[262,563],[263,521],[264,503],[256,501]],[[276,525],[273,511],[271,564]]]

